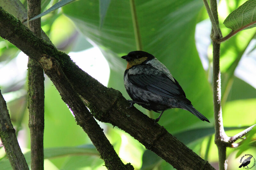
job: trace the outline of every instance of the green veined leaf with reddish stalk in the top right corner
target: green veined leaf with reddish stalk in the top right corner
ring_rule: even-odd
[[[226,27],[232,29],[232,32],[238,32],[256,26],[256,0],[246,1],[235,11],[231,12],[223,23]]]

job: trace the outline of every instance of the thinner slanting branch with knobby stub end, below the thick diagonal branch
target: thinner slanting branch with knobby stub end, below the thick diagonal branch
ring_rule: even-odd
[[[88,111],[60,68],[59,63],[54,58],[47,55],[42,55],[39,63],[60,92],[62,100],[68,104],[69,108],[73,111],[77,124],[84,129],[93,145],[100,153],[100,157],[105,161],[105,166],[110,170],[134,169],[131,164],[124,165],[118,157],[113,146],[104,135],[103,129],[100,128],[92,114]]]

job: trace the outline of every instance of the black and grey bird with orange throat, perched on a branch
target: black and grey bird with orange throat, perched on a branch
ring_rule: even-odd
[[[136,103],[160,113],[154,124],[159,121],[164,111],[170,108],[187,110],[200,120],[210,122],[193,107],[178,81],[154,55],[145,51],[131,51],[121,58],[127,61],[124,86],[132,99],[128,100],[131,102],[130,107]]]

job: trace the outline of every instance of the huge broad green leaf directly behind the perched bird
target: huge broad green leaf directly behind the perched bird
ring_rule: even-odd
[[[98,1],[76,1],[62,7],[78,29],[100,47],[111,68],[109,86],[124,96],[128,96],[123,85],[126,63],[119,57],[136,50],[130,2],[112,0],[100,30]],[[202,5],[200,0],[135,1],[142,50],[155,55],[171,70],[194,107],[212,121],[212,90],[194,39],[196,18]],[[181,109],[165,111],[159,123],[170,132],[211,126]]]

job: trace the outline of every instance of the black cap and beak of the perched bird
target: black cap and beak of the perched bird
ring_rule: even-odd
[[[125,59],[127,62],[130,62],[130,61],[134,61],[134,60],[139,60],[141,58],[144,58],[145,60],[151,60],[155,57],[154,57],[154,55],[149,54],[145,51],[131,51],[127,55],[122,56],[122,58]]]

